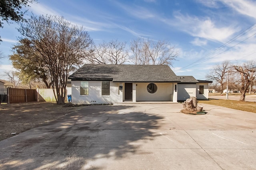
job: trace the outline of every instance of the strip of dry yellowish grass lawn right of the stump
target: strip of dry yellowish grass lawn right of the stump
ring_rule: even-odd
[[[210,99],[210,100],[199,100],[198,104],[212,104],[216,106],[223,106],[231,109],[237,109],[237,110],[256,113],[255,102],[240,102],[236,100]]]

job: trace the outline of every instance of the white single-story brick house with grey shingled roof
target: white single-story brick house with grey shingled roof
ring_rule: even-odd
[[[208,99],[208,83],[168,65],[85,64],[69,76],[74,104]]]

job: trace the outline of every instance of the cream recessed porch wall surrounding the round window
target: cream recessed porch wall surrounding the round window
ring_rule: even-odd
[[[157,91],[151,94],[147,90],[149,83],[134,83],[136,86],[136,101],[172,101],[173,83],[154,83]],[[134,93],[134,92],[133,92]]]

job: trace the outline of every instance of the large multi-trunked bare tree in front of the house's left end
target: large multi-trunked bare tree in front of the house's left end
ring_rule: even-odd
[[[23,36],[20,39],[30,41],[38,62],[48,69],[57,104],[64,104],[68,75],[83,63],[92,43],[87,31],[59,16],[31,16],[18,31]]]

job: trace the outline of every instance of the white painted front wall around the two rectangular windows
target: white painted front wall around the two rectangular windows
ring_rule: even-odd
[[[111,104],[122,102],[119,83],[110,81],[110,96],[101,95],[101,81],[88,81],[88,95],[80,95],[80,81],[72,81],[72,103],[74,104]]]

